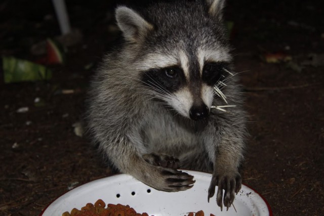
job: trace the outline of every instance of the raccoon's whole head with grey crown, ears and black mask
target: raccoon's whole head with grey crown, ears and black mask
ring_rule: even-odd
[[[199,4],[187,5],[186,11],[177,4],[171,9],[157,5],[160,8],[151,13],[154,26],[129,8],[116,11],[125,38],[140,45],[136,68],[141,81],[155,98],[192,120],[206,119],[215,97],[226,102],[220,89],[230,73],[231,60],[226,42],[218,35],[222,29],[213,26],[219,24],[213,19],[221,15],[213,13],[221,10],[223,1]]]

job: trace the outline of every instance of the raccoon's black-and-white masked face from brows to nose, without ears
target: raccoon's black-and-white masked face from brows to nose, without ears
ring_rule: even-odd
[[[156,98],[181,115],[192,120],[207,118],[218,97],[215,88],[225,85],[228,78],[229,57],[221,58],[217,51],[207,55],[202,50],[191,57],[185,52],[179,52],[178,58],[171,56],[150,54],[146,63],[153,67],[143,71],[141,80]]]

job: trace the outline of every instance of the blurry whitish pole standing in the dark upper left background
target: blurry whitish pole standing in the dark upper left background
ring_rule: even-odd
[[[64,0],[52,0],[62,34],[71,32],[70,21]]]

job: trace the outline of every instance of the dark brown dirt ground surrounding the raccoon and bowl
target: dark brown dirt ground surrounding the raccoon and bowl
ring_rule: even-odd
[[[66,65],[52,67],[48,82],[1,80],[0,215],[38,215],[73,183],[111,174],[72,124],[83,113],[93,73],[84,67],[97,63],[113,39],[108,28],[113,4],[67,3],[71,24],[84,38],[69,47]],[[320,61],[298,72],[260,56],[287,53],[301,64],[310,54],[323,54],[322,15],[321,1],[228,1],[236,69],[247,71],[241,77],[251,137],[242,176],[267,199],[273,215],[323,215],[324,67]],[[59,34],[50,1],[0,2],[1,55],[35,60],[30,47]],[[66,89],[76,91],[56,94]],[[34,106],[37,97],[44,106]],[[17,113],[20,107],[29,111]]]

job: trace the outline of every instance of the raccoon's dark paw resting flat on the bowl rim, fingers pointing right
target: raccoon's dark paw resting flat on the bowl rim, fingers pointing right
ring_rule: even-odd
[[[160,182],[160,190],[169,192],[184,191],[192,188],[195,183],[193,176],[181,170],[158,167],[158,172],[159,174],[155,176],[155,181]]]

